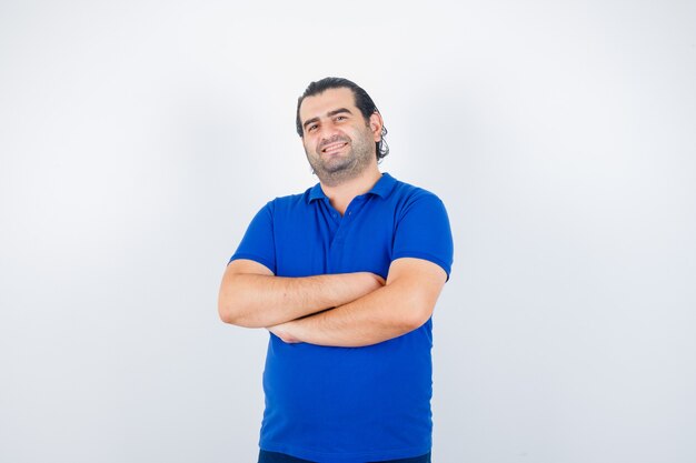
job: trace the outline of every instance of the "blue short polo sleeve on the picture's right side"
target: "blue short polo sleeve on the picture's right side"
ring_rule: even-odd
[[[391,259],[417,258],[451,271],[454,243],[445,204],[432,193],[410,200],[398,218]]]

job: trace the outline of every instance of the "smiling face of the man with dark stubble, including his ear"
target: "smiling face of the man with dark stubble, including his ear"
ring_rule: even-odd
[[[328,89],[305,98],[300,121],[307,160],[322,183],[340,184],[377,164],[381,118],[376,113],[366,122],[352,90]]]

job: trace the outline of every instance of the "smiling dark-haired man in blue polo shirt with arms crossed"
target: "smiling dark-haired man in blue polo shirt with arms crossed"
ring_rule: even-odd
[[[430,462],[445,207],[380,173],[386,129],[354,82],[312,82],[296,122],[319,183],[258,212],[219,295],[222,321],[271,333],[259,462]]]

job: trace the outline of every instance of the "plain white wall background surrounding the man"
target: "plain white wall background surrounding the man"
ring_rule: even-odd
[[[0,461],[255,462],[229,255],[355,80],[437,193],[437,463],[696,461],[696,3],[0,3]]]

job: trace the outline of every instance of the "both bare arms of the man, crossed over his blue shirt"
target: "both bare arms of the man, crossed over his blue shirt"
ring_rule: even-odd
[[[225,271],[218,311],[226,323],[267,328],[288,343],[357,348],[427,322],[446,280],[439,265],[412,258],[391,262],[386,282],[369,272],[275,276],[240,259]]]

